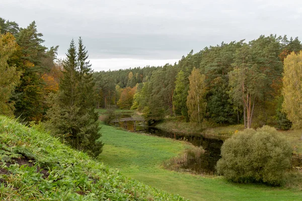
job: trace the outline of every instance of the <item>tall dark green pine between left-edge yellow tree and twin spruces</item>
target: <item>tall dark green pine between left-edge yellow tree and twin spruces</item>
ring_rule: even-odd
[[[16,102],[15,116],[21,117],[21,120],[39,121],[45,114],[44,82],[41,77],[48,69],[41,65],[41,58],[46,56],[47,49],[42,46],[42,36],[37,32],[35,22],[17,34],[17,43],[21,47],[17,70],[22,75],[12,100]]]

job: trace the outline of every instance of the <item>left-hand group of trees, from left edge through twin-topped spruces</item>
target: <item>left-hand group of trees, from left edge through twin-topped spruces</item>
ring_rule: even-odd
[[[92,156],[102,152],[93,70],[80,37],[66,59],[43,46],[35,22],[19,28],[0,18],[0,115],[40,123],[71,147]],[[29,125],[30,125],[29,124]]]

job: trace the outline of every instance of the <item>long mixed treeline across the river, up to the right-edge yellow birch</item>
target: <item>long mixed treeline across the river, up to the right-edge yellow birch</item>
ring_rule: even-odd
[[[298,38],[262,35],[250,42],[222,42],[195,54],[191,51],[174,65],[150,68],[152,75],[137,73],[145,67],[135,68],[135,73],[134,69],[99,72],[95,79],[108,77],[112,94],[119,94],[119,87],[137,84],[131,107],[149,120],[170,115],[197,123],[244,123],[246,128],[252,123],[255,127],[269,124],[286,129],[291,122],[282,110],[283,61],[300,50]],[[102,86],[98,90],[106,93]],[[118,95],[114,98],[110,105],[118,102]]]

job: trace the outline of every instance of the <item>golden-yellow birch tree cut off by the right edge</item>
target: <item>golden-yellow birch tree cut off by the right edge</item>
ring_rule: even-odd
[[[302,51],[284,59],[283,111],[293,128],[302,128]]]

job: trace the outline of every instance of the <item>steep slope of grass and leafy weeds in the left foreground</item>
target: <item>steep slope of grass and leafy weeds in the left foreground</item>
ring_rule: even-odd
[[[0,116],[0,200],[183,200]]]

